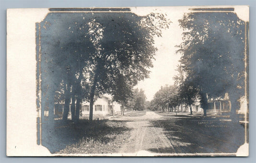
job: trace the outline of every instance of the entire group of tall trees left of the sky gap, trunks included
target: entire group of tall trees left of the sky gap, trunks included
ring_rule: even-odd
[[[53,120],[54,104],[63,101],[66,121],[72,100],[72,120],[77,122],[80,103],[87,100],[92,120],[93,103],[104,93],[126,103],[137,82],[148,77],[157,51],[154,37],[168,25],[158,13],[50,13],[37,25],[42,115],[48,109]]]

